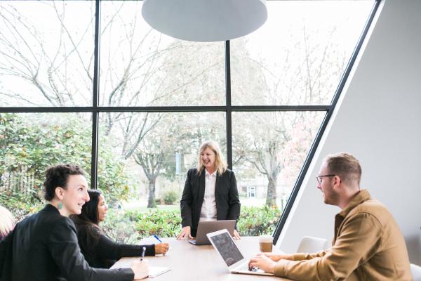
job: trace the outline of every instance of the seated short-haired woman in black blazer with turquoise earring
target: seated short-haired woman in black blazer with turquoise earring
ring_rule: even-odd
[[[12,261],[8,281],[133,280],[147,277],[148,263],[134,261],[131,268],[91,268],[77,243],[76,228],[68,217],[80,214],[89,200],[88,183],[79,166],[57,165],[46,171],[48,204],[25,218],[11,232]]]

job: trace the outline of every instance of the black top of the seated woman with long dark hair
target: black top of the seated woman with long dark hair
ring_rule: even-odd
[[[155,245],[130,245],[130,244],[119,244],[110,240],[104,233],[98,228],[92,225],[79,225],[76,221],[77,239],[79,241],[79,247],[83,256],[89,265],[95,268],[110,268],[117,259],[121,259],[123,256],[140,256],[142,254],[142,247],[146,248],[146,256],[155,255]],[[91,231],[93,235],[98,237],[98,240],[91,243],[88,239]]]

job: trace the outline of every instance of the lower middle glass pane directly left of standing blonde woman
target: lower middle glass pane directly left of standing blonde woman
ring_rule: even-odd
[[[178,233],[187,170],[208,139],[226,155],[225,112],[101,114],[98,182],[110,208],[107,234],[135,242]]]

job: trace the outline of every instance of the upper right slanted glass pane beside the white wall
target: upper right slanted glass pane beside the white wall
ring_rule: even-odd
[[[267,1],[265,25],[231,41],[233,105],[328,105],[373,1]]]

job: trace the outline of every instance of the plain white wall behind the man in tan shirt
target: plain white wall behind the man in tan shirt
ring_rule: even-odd
[[[332,239],[340,209],[323,204],[314,177],[324,156],[346,151],[421,264],[421,1],[382,2],[356,63],[278,245],[293,252],[302,236]]]

